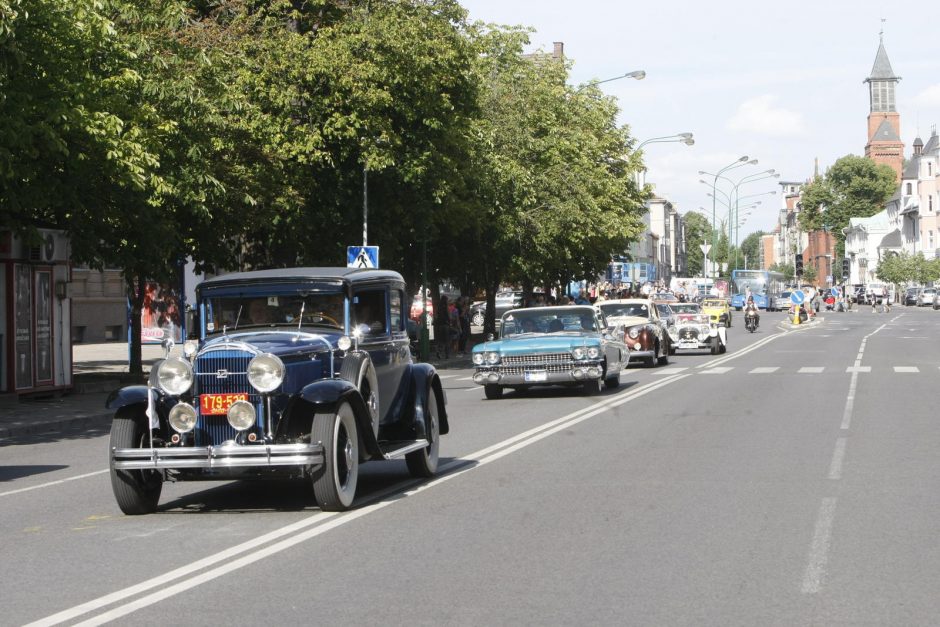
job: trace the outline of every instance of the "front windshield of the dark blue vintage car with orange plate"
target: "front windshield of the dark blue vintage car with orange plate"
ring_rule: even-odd
[[[276,325],[343,329],[343,302],[339,293],[209,296],[203,302],[206,334]]]

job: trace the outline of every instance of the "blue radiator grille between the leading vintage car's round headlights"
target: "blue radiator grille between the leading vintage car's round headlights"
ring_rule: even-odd
[[[198,357],[193,371],[196,375],[194,393],[198,419],[196,421],[196,445],[218,445],[234,440],[238,433],[228,423],[224,414],[202,415],[200,394],[248,394],[248,401],[255,406],[260,422],[262,417],[261,395],[248,383],[248,362],[254,353],[240,349],[210,350]]]

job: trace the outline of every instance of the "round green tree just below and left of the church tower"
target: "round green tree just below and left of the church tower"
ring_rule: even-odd
[[[845,252],[842,229],[848,227],[849,219],[875,215],[896,188],[896,175],[890,167],[847,155],[838,159],[825,176],[803,187],[800,226],[806,231],[831,232],[839,259]]]

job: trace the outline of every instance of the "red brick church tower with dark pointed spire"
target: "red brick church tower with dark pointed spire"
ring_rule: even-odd
[[[904,144],[901,142],[901,117],[895,106],[894,87],[901,80],[894,75],[888,53],[885,52],[884,36],[879,34],[878,54],[871,76],[865,79],[870,93],[868,113],[868,143],[865,156],[875,163],[890,166],[901,182],[904,164]]]

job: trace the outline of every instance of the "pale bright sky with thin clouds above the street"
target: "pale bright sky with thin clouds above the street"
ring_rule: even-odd
[[[756,165],[728,170],[731,182],[773,169],[780,178],[743,182],[739,237],[771,231],[781,181],[824,174],[845,155],[864,155],[870,75],[879,33],[895,75],[905,157],[914,138],[940,126],[940,40],[929,4],[910,0],[461,0],[470,19],[534,29],[528,51],[564,42],[574,85],[644,70],[643,80],[598,87],[617,98],[620,123],[638,142],[690,132],[695,144],[643,147],[646,182],[680,213],[712,219],[713,177],[742,156]],[[884,21],[883,21],[884,20]],[[705,179],[708,184],[700,183]],[[759,177],[753,177],[759,178]],[[719,180],[719,189],[731,183]],[[768,192],[776,191],[776,194]],[[727,214],[721,193],[715,216]],[[724,215],[723,215],[724,214]]]

